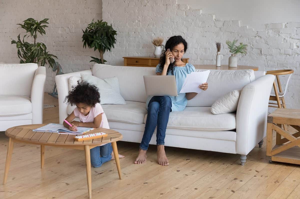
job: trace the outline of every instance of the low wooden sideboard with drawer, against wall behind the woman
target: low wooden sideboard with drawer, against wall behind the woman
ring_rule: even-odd
[[[156,67],[161,58],[155,57],[123,57],[124,66],[144,66]],[[189,58],[182,58],[184,63],[188,63]]]

